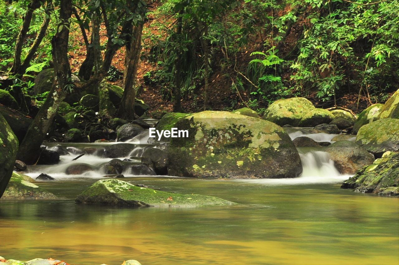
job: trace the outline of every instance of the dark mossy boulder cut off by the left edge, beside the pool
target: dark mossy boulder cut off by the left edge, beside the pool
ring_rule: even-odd
[[[11,178],[17,152],[17,137],[0,113],[0,198]]]

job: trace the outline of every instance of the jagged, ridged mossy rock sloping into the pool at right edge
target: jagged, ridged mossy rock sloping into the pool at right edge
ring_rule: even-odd
[[[399,196],[399,153],[387,152],[373,164],[365,166],[356,175],[344,181],[341,188],[356,192]]]

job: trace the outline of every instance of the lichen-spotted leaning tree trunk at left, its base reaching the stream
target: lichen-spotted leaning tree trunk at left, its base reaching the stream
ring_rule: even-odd
[[[60,0],[57,33],[51,40],[55,79],[49,95],[30,125],[18,150],[18,159],[26,164],[35,164],[40,156],[40,145],[46,137],[60,103],[71,85],[71,68],[68,61],[69,18],[72,15],[72,1]]]

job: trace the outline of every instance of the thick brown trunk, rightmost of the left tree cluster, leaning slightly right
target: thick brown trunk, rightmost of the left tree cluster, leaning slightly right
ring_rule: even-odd
[[[138,59],[141,52],[141,34],[144,23],[138,23],[132,29],[130,43],[126,45],[125,73],[123,80],[123,96],[119,106],[118,116],[124,119],[134,119],[134,101],[136,99],[136,79]]]

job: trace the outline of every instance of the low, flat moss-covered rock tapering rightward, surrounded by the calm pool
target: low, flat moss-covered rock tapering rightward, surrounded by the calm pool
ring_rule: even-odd
[[[147,207],[199,207],[235,204],[213,196],[176,194],[138,187],[117,179],[95,182],[76,198],[76,202]]]

